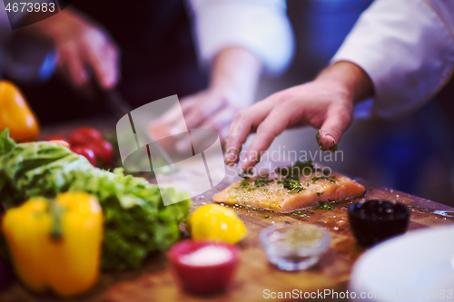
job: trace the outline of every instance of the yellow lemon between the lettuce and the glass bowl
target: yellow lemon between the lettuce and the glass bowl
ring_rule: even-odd
[[[219,204],[207,204],[189,217],[186,229],[194,240],[214,240],[236,243],[247,234],[242,220],[233,209]]]

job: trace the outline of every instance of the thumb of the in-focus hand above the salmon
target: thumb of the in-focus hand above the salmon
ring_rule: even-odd
[[[345,109],[333,109],[327,113],[325,122],[316,134],[317,143],[322,151],[336,151],[341,135],[351,123],[352,112]]]

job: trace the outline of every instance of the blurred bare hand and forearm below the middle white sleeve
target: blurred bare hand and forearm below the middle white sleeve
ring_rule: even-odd
[[[166,124],[172,129],[211,129],[224,140],[233,116],[240,109],[251,105],[261,73],[261,63],[254,54],[241,47],[222,50],[212,63],[212,79],[208,89],[181,100],[184,121],[179,119],[177,107],[166,112],[152,123],[153,127]],[[186,125],[184,125],[184,122]],[[194,137],[197,144],[205,137]],[[176,150],[186,151],[189,141],[179,141]]]

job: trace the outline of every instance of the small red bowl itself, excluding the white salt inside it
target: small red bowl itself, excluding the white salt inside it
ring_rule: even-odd
[[[196,266],[182,262],[182,257],[199,248],[217,246],[227,248],[232,258],[220,264]],[[183,240],[167,252],[173,271],[183,288],[196,295],[213,295],[222,292],[232,281],[238,266],[239,248],[236,246],[212,241]]]

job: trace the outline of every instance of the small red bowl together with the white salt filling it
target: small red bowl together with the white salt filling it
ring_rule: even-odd
[[[174,276],[195,295],[214,295],[231,283],[239,248],[222,242],[183,240],[168,251]]]

